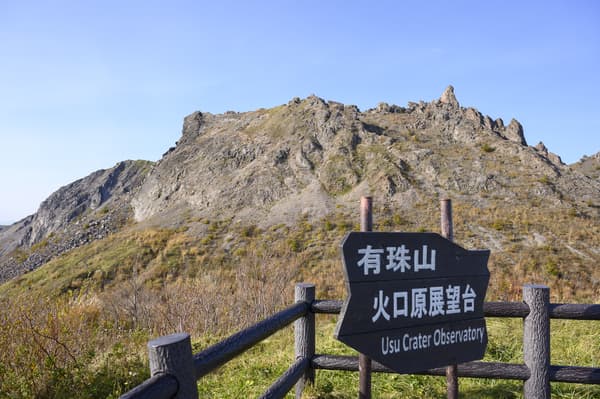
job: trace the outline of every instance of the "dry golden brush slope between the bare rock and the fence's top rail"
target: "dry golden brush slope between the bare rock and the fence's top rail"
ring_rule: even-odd
[[[412,215],[376,204],[375,230],[436,231],[438,218],[430,204]],[[593,215],[455,203],[454,219],[458,244],[492,250],[487,300],[519,301],[535,282],[550,286],[554,302],[600,302]],[[353,222],[339,209],[267,230],[213,221],[201,237],[125,230],[65,254],[0,287],[0,392],[115,396],[146,377],[150,337],[185,331],[214,342],[290,304],[299,281],[315,283],[318,298],[341,299],[338,246]]]

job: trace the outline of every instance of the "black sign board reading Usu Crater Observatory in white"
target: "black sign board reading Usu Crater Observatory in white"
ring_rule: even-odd
[[[483,358],[490,251],[435,233],[349,233],[335,336],[399,373]]]

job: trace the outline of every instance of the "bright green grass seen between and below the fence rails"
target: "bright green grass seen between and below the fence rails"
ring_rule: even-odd
[[[317,316],[317,353],[356,353],[333,338],[336,316]],[[552,322],[552,364],[600,367],[600,331],[582,321]],[[490,342],[485,361],[521,363],[522,322],[488,318]],[[198,345],[201,346],[201,345]],[[261,342],[255,348],[199,381],[201,398],[258,397],[293,361],[291,327]],[[509,380],[461,378],[460,395],[465,398],[521,398],[523,383]],[[598,398],[600,386],[552,383],[553,398]],[[358,373],[317,370],[315,386],[305,398],[355,398]],[[444,377],[374,373],[374,398],[444,398]],[[288,394],[293,398],[293,392]]]

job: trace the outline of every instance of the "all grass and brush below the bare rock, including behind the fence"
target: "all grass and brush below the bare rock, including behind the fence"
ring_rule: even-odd
[[[547,284],[553,302],[598,303],[599,271],[581,243],[599,246],[592,217],[535,208],[479,209],[455,203],[456,241],[491,248],[486,300],[521,300],[526,282]],[[437,209],[401,215],[375,205],[375,230],[436,231]],[[194,351],[292,302],[311,281],[319,299],[345,296],[339,243],[357,230],[339,209],[320,220],[261,229],[231,219],[179,228],[132,226],[70,251],[0,286],[0,392],[11,398],[118,397],[148,377],[145,345],[176,331]],[[468,222],[467,222],[468,221]],[[190,234],[204,226],[205,233]],[[555,226],[552,230],[546,226]],[[590,245],[590,244],[588,244]],[[33,298],[33,299],[32,299]],[[332,338],[336,317],[318,317],[317,352],[351,354]],[[553,321],[552,362],[600,366],[597,322]],[[521,321],[490,319],[486,360],[522,362]],[[201,397],[262,393],[291,364],[291,328],[200,381]],[[356,395],[357,375],[318,371],[307,398]],[[443,378],[374,376],[375,397],[443,397]],[[593,386],[553,384],[553,397],[598,397]],[[522,383],[461,379],[467,397],[520,397]],[[290,396],[291,397],[291,396]]]

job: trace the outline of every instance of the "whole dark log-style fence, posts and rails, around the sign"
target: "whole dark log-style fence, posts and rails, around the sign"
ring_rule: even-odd
[[[315,370],[358,371],[358,356],[315,353],[315,314],[338,314],[342,301],[315,300],[315,286],[296,285],[296,303],[285,310],[238,332],[206,350],[192,355],[188,334],[174,334],[148,343],[151,378],[122,395],[122,399],[197,398],[197,380],[225,364],[258,342],[295,321],[296,361],[261,398],[283,398],[296,386],[296,397],[314,382]],[[600,320],[600,304],[549,302],[549,289],[523,287],[523,302],[486,302],[486,317],[523,318],[524,363],[469,362],[459,364],[459,377],[524,381],[524,397],[550,398],[550,382],[600,384],[600,368],[550,364],[550,319]],[[391,373],[373,362],[373,372]],[[446,375],[445,368],[426,370],[422,375]]]

